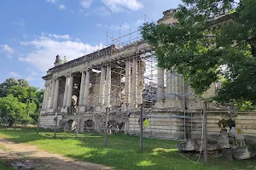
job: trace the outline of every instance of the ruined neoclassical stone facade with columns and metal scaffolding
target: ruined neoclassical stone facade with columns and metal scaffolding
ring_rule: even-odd
[[[159,23],[175,25],[173,9]],[[144,134],[154,138],[183,139],[186,116],[202,109],[182,75],[156,67],[154,48],[143,41],[110,45],[62,64],[59,56],[47,71],[40,127],[57,124],[64,131],[113,130],[139,133],[140,105],[149,120]],[[151,60],[150,60],[151,59]],[[154,69],[153,69],[154,68]],[[151,70],[150,70],[151,69]],[[215,84],[205,95],[215,93]]]

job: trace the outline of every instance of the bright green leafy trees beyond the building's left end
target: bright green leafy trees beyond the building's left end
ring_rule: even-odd
[[[29,86],[24,79],[15,81],[13,78],[7,79],[0,84],[3,89],[0,98],[0,111],[2,119],[8,117],[9,124],[12,125],[15,119],[19,122],[36,123],[38,111],[42,107],[44,90]]]

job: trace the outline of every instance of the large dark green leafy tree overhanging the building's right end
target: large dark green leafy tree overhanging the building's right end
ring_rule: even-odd
[[[196,94],[221,81],[218,102],[256,105],[256,1],[182,2],[175,14],[177,26],[141,27],[143,39],[155,47],[158,65],[183,74]],[[223,25],[209,31],[219,18]]]

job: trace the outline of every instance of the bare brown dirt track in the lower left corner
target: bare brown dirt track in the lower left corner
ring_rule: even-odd
[[[17,169],[35,170],[105,170],[113,169],[102,165],[76,161],[58,154],[50,154],[38,150],[36,146],[15,144],[6,139],[0,139],[0,157],[10,166]]]

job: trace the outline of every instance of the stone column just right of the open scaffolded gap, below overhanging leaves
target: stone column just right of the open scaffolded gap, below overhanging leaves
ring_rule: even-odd
[[[157,99],[165,99],[165,74],[161,68],[157,69]]]

